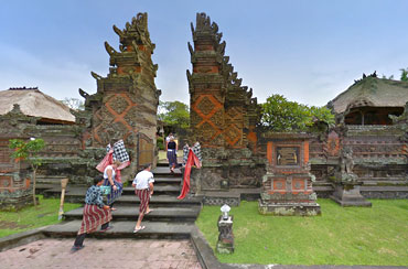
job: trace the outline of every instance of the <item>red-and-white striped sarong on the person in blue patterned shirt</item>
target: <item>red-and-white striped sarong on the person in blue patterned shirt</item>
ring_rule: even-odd
[[[110,220],[110,209],[104,209],[98,207],[97,205],[85,204],[83,212],[83,223],[80,224],[78,235],[93,233],[99,227],[99,225],[103,225]]]

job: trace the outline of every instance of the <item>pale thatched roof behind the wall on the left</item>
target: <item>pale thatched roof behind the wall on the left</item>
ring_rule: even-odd
[[[26,116],[56,122],[75,122],[75,116],[69,112],[67,106],[37,88],[10,88],[0,92],[0,115],[10,112],[14,104],[18,104]]]

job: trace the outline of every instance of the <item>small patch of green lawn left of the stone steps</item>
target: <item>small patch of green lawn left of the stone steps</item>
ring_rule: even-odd
[[[39,195],[39,198],[36,209],[34,206],[28,206],[19,212],[0,212],[0,237],[60,223],[60,198],[43,198],[42,195]],[[65,203],[64,211],[82,205]]]

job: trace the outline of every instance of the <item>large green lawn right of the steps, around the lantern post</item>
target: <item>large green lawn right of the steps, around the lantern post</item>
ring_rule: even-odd
[[[233,207],[235,252],[227,263],[408,266],[408,200],[371,200],[372,208],[319,200],[322,216],[258,213],[257,202]],[[215,251],[219,206],[204,206],[196,222]]]

